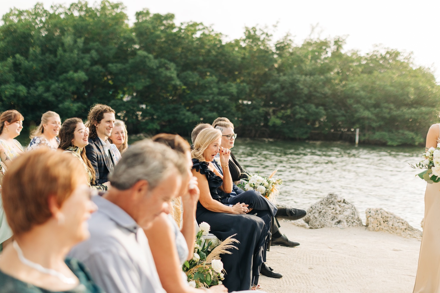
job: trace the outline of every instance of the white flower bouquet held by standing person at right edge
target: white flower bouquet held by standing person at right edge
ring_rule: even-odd
[[[426,169],[425,171],[417,174],[428,183],[440,182],[440,147],[429,148],[423,155],[422,160],[410,166],[412,168]]]

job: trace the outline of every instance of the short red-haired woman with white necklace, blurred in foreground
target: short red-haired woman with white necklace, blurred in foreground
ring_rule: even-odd
[[[96,210],[81,164],[40,148],[20,156],[4,177],[4,210],[14,242],[0,257],[1,293],[103,292],[66,253],[89,237]],[[48,184],[50,182],[50,184]]]

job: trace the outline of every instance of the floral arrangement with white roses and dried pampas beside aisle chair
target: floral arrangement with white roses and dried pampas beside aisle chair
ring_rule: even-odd
[[[235,234],[221,243],[206,239],[210,228],[208,223],[200,223],[194,245],[194,256],[191,260],[185,261],[182,266],[187,275],[188,284],[194,288],[209,288],[222,284],[226,271],[220,260],[220,254],[231,254],[230,249],[237,249],[232,245],[232,243],[238,242],[232,238]]]

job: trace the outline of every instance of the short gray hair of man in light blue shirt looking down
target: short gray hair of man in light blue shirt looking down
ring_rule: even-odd
[[[119,190],[127,190],[139,180],[146,180],[149,188],[153,189],[173,170],[186,174],[187,169],[187,160],[176,151],[164,144],[144,139],[124,152],[110,175],[110,184]]]

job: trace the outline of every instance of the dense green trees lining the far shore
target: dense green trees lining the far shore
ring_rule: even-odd
[[[226,42],[147,9],[129,26],[124,10],[104,0],[5,14],[0,110],[18,109],[29,127],[48,110],[85,119],[104,103],[131,134],[188,136],[225,116],[247,137],[341,138],[359,127],[362,142],[386,145],[422,144],[437,122],[439,85],[411,55],[345,52],[341,37],[296,45],[258,27]]]

